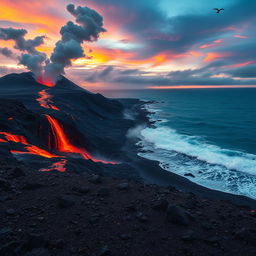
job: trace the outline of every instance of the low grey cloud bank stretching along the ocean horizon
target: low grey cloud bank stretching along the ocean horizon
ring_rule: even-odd
[[[243,68],[244,71],[247,67]],[[198,69],[187,69],[183,71],[172,71],[165,74],[153,75],[149,72],[142,72],[140,70],[124,70],[121,67],[97,67],[93,70],[76,71],[73,74],[76,76],[83,76],[83,80],[88,83],[105,83],[112,88],[145,88],[148,86],[175,86],[175,85],[243,85],[255,84],[255,80],[242,81],[234,79],[235,71],[240,69],[226,69],[220,70],[218,67],[210,64],[206,67]],[[255,69],[256,70],[256,69]],[[129,72],[130,71],[130,72]],[[247,71],[250,71],[249,69]],[[225,75],[223,76],[223,72]],[[253,68],[251,69],[253,72]],[[254,71],[254,74],[256,72]],[[249,76],[252,74],[243,73],[239,77],[253,78]]]

